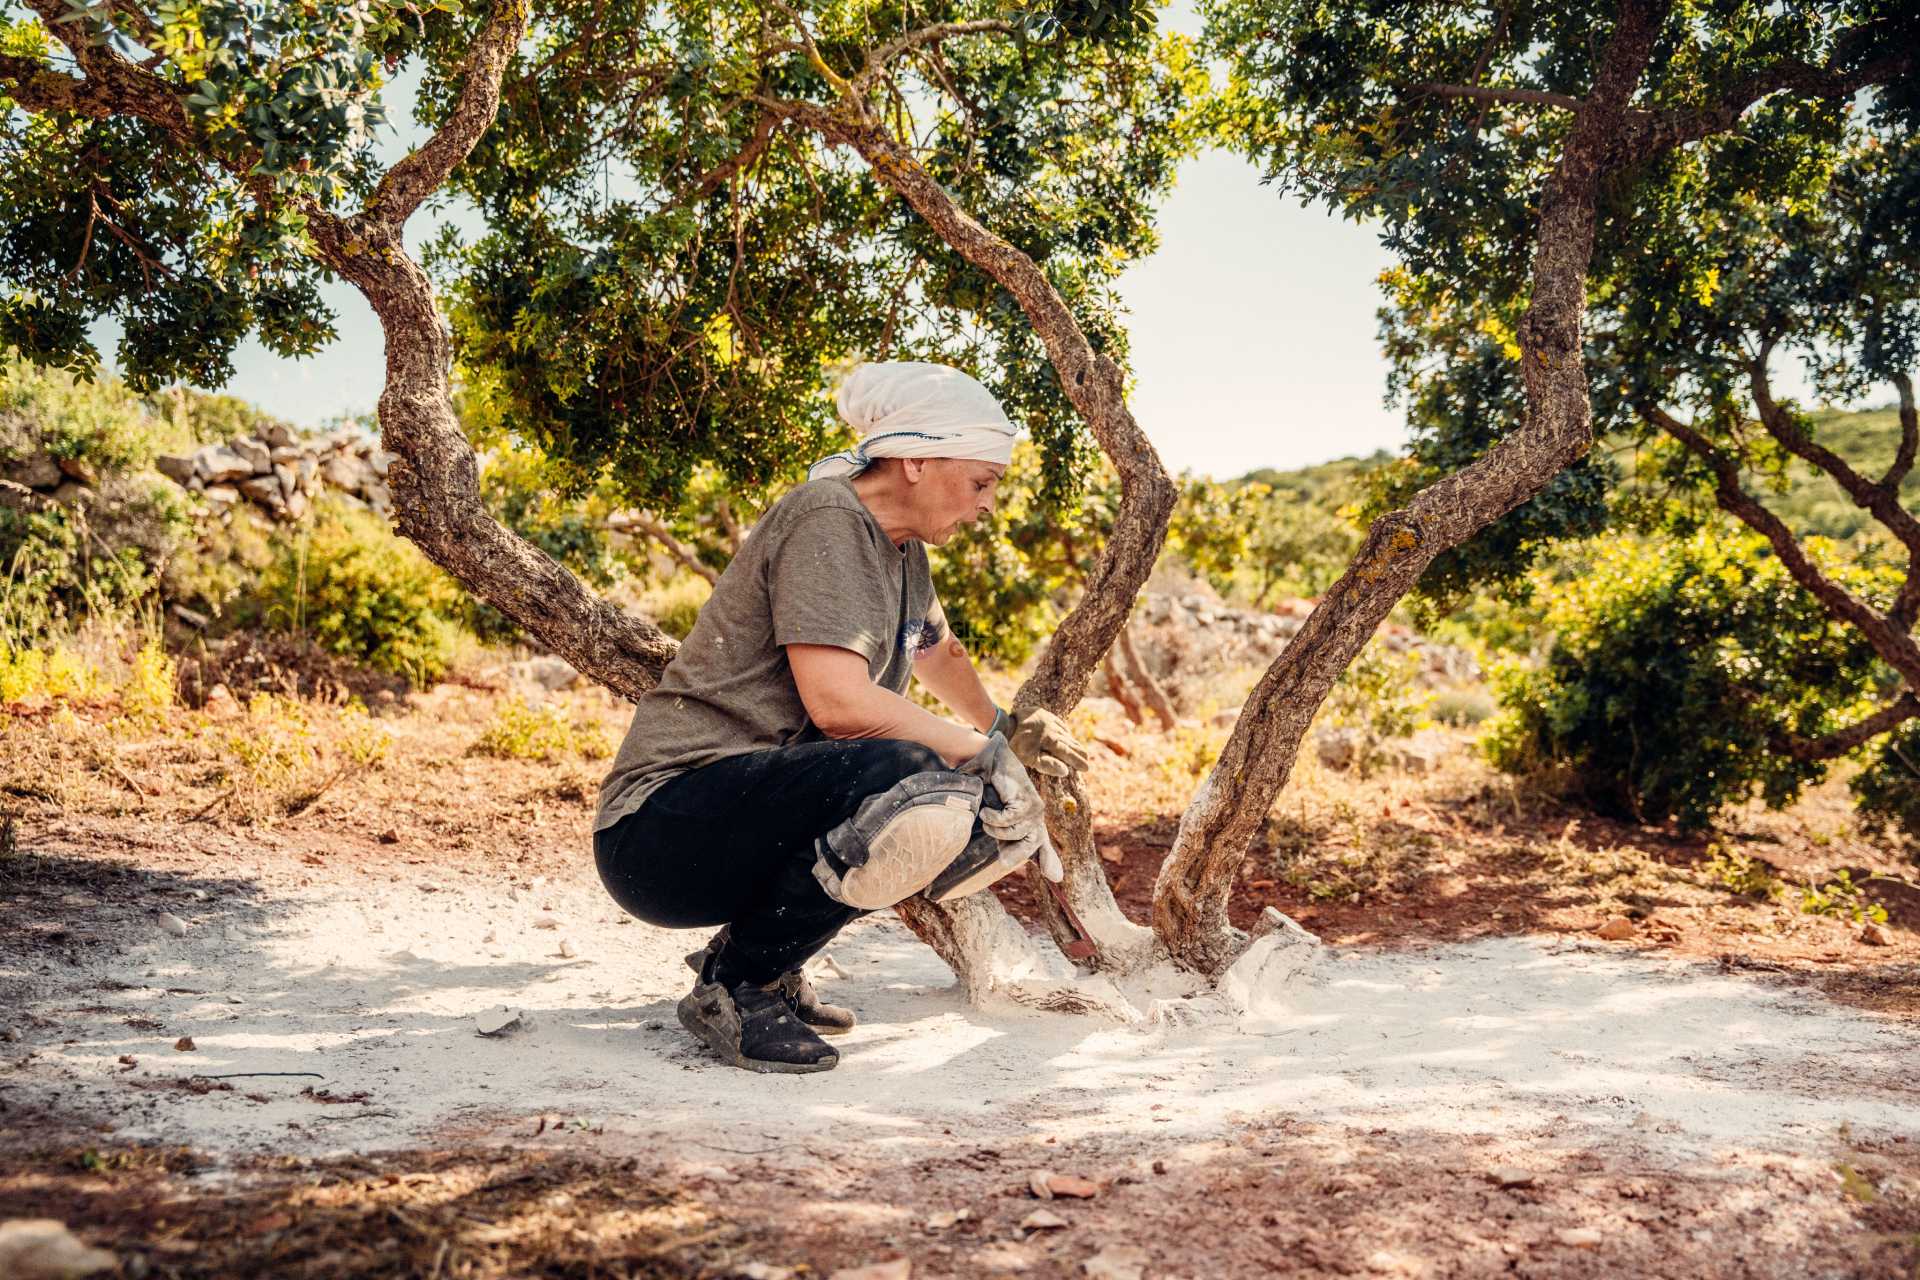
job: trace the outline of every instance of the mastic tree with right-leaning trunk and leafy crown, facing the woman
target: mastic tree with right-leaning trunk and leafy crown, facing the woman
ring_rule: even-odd
[[[1246,850],[1340,672],[1446,551],[1540,497],[1592,449],[1590,273],[1647,234],[1636,194],[1705,138],[1868,86],[1910,106],[1912,6],[1572,0],[1202,6],[1233,83],[1221,136],[1283,190],[1379,221],[1417,278],[1511,299],[1507,413],[1452,470],[1379,514],[1275,660],[1181,821],[1154,927],[1183,963],[1244,946],[1225,919]],[[1755,113],[1755,107],[1761,107]]]

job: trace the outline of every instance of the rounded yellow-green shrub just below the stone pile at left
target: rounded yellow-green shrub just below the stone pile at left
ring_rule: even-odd
[[[338,503],[275,553],[261,578],[259,620],[311,635],[328,652],[428,685],[445,674],[461,631],[461,593],[386,522]]]

